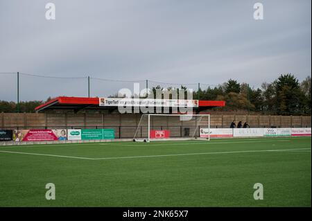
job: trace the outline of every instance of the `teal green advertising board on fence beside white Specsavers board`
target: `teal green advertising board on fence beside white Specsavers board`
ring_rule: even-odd
[[[100,140],[100,139],[114,139],[114,129],[82,129],[82,140]]]

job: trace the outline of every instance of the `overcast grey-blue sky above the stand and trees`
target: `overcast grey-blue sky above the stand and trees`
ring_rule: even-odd
[[[46,20],[46,3],[56,19]],[[0,0],[0,72],[260,87],[281,73],[311,76],[311,0]],[[132,83],[91,81],[91,96]],[[152,85],[152,82],[150,82]],[[189,86],[191,87],[191,85]],[[197,87],[193,85],[193,87]],[[16,100],[0,74],[0,100]],[[21,100],[87,96],[87,79],[21,76]]]

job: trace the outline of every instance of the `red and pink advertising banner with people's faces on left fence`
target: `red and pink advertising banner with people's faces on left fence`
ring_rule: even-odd
[[[66,130],[14,130],[14,141],[64,141],[67,139]]]

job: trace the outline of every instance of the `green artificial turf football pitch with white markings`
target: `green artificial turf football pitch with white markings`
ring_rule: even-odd
[[[3,146],[0,206],[311,206],[311,137]]]

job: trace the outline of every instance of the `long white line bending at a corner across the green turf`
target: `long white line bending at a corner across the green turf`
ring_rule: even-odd
[[[244,153],[244,152],[283,152],[291,150],[311,150],[311,148],[294,148],[294,149],[280,149],[280,150],[241,150],[241,151],[224,151],[224,152],[196,152],[189,154],[164,154],[164,155],[146,155],[146,156],[130,156],[130,157],[103,157],[103,158],[89,158],[89,157],[71,157],[71,156],[62,156],[54,154],[37,154],[31,152],[15,152],[15,151],[6,151],[0,150],[0,152],[14,153],[14,154],[28,154],[28,155],[39,155],[46,157],[64,157],[64,158],[73,158],[73,159],[135,159],[135,158],[148,158],[148,157],[177,157],[177,156],[188,156],[188,155],[203,155],[203,154],[232,154],[232,153]]]

